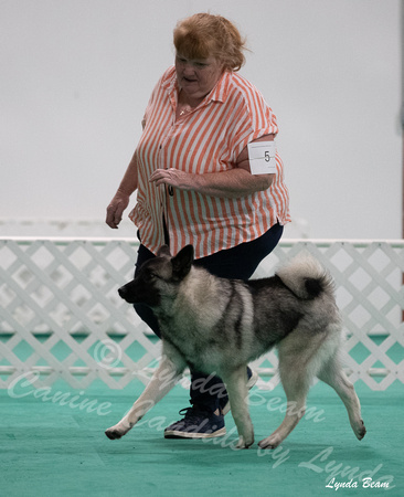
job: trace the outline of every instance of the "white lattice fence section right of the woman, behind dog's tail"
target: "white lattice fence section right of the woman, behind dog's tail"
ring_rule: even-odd
[[[351,381],[372,390],[404,382],[404,242],[291,241],[281,242],[254,277],[273,274],[276,265],[300,251],[310,252],[331,272],[342,311],[347,341],[343,359]],[[277,367],[275,352],[254,364]],[[272,379],[268,388],[277,382]]]

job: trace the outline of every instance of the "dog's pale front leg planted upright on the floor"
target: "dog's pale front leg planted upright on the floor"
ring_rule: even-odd
[[[254,427],[247,405],[247,368],[243,366],[223,380],[226,384],[232,415],[238,432],[236,448],[248,448],[254,443]]]

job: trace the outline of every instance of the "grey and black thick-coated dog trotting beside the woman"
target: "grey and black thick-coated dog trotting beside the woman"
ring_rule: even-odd
[[[330,274],[309,254],[298,255],[274,276],[225,279],[194,266],[192,245],[176,256],[162,246],[138,276],[119,288],[129,304],[150,306],[161,328],[162,359],[130,411],[105,433],[125,435],[176,384],[185,367],[224,381],[237,427],[237,448],[254,443],[247,408],[246,366],[276,347],[286,393],[285,419],[262,440],[277,447],[305,415],[306,396],[317,377],[332,387],[347,408],[358,440],[365,427],[352,383],[339,360],[341,317]]]

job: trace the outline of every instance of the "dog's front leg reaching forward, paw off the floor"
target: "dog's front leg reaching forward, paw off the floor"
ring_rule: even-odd
[[[106,430],[107,437],[117,440],[126,435],[155,404],[167,395],[183,370],[182,363],[176,363],[163,353],[150,383],[119,423]]]

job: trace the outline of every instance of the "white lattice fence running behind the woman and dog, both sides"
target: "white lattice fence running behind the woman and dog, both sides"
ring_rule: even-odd
[[[35,385],[148,381],[160,342],[116,292],[132,277],[136,250],[128,240],[0,239],[0,387],[30,371]],[[255,276],[301,250],[336,279],[351,380],[373,390],[404,382],[404,241],[284,241]],[[255,361],[262,388],[277,383],[276,367],[275,352]]]

